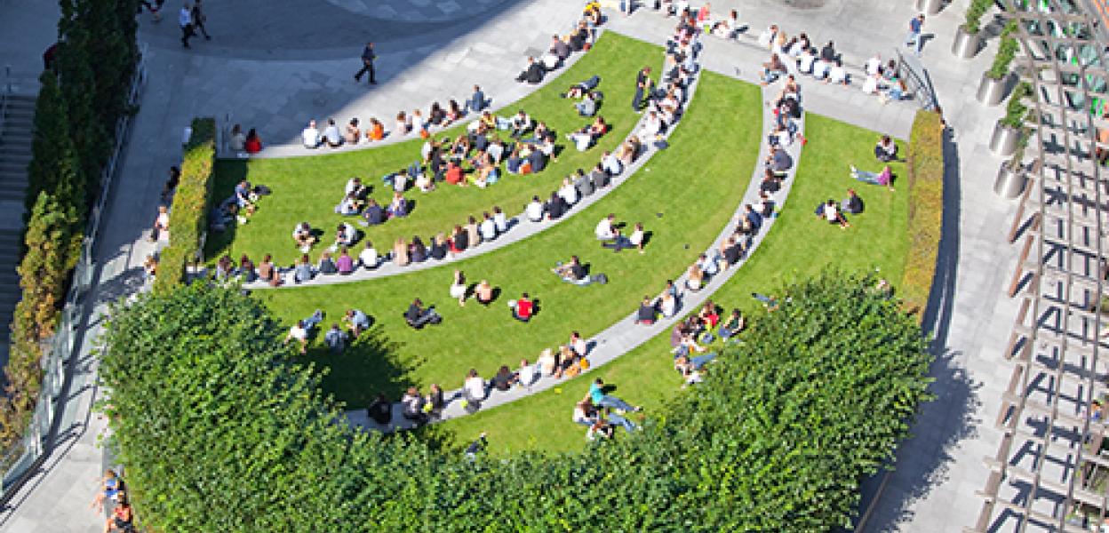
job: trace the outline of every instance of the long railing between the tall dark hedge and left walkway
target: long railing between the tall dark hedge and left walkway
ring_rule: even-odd
[[[146,47],[143,45],[139,51],[139,61],[135,64],[135,73],[131,80],[131,91],[128,95],[128,104],[131,106],[139,103],[146,83],[145,58]],[[82,317],[89,310],[90,304],[82,297],[92,285],[95,268],[95,243],[100,235],[101,218],[112,191],[112,184],[115,181],[115,174],[120,168],[131,125],[132,116],[130,113],[125,113],[115,123],[115,144],[108,164],[101,171],[100,197],[96,198],[89,215],[85,235],[81,242],[81,257],[73,270],[73,280],[69,293],[67,293],[61,319],[42,358],[42,389],[39,392],[30,426],[19,442],[0,453],[0,471],[3,472],[3,476],[0,479],[0,489],[2,489],[0,502],[6,502],[13,495],[29,474],[34,471],[34,464],[41,461],[45,452],[50,450],[51,428],[57,414],[54,402],[61,401],[60,396],[65,383],[65,363],[74,356],[74,338]]]

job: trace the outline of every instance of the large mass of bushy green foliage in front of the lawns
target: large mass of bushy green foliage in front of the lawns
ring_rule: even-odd
[[[876,281],[783,288],[704,383],[580,453],[355,432],[260,300],[208,284],[112,310],[103,409],[154,531],[830,531],[928,398],[925,339]]]

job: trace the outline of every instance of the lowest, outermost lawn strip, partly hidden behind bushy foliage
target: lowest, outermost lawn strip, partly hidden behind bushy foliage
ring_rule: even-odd
[[[696,105],[696,104],[694,104]],[[731,137],[734,132],[722,132]],[[802,151],[796,183],[766,240],[751,260],[712,296],[726,307],[760,312],[752,291],[773,294],[790,277],[810,276],[835,265],[844,269],[879,268],[881,276],[899,281],[908,249],[908,194],[905,183],[897,191],[855,182],[848,165],[877,171],[873,146],[878,134],[832,119],[808,114],[805,119],[808,144]],[[906,152],[903,146],[902,152]],[[905,165],[895,164],[897,176]],[[745,173],[742,175],[746,175]],[[827,198],[842,199],[854,187],[866,209],[851,217],[852,227],[841,230],[813,215]],[[567,451],[580,449],[584,429],[570,421],[573,404],[598,377],[618,387],[614,392],[647,412],[678,393],[682,380],[673,370],[669,335],[661,335],[598,371],[567,382],[551,391],[471,417],[434,426],[447,441],[465,443],[481,431],[488,432],[495,453],[520,450]]]

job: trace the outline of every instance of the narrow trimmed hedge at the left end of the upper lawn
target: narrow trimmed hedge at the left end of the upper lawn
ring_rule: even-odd
[[[214,165],[215,119],[194,119],[193,133],[181,162],[181,181],[170,209],[170,246],[159,257],[154,290],[164,291],[181,285],[185,266],[197,258],[207,223]]]

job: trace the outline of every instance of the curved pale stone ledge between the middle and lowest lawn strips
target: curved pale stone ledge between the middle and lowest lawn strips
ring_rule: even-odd
[[[698,78],[702,75],[699,72]],[[770,88],[762,89],[762,100],[770,100],[774,96]],[[765,139],[765,134],[769,134],[771,126],[774,124],[774,116],[771,113],[770,107],[763,107],[763,124],[762,131]],[[804,132],[804,115],[797,122],[798,133]],[[788,197],[790,189],[792,188],[794,178],[796,176],[797,165],[801,155],[800,142],[794,142],[786,152],[793,157],[793,165],[788,171],[788,178],[783,182],[782,189],[776,193],[774,202],[775,209],[784,205],[785,199]],[[739,203],[735,208],[735,215],[731,221],[735,221],[744,212],[744,206],[757,202],[759,198],[759,186],[763,177],[763,165],[762,161],[769,154],[766,143],[760,142],[759,157],[755,160],[755,168],[751,182],[747,185],[747,191],[743,196],[743,199]],[[590,376],[596,372],[599,368],[604,365],[618,359],[620,356],[632,351],[639,346],[663,335],[668,331],[674,324],[684,318],[691,309],[696,309],[704,304],[710,296],[716,293],[731,277],[739,271],[743,265],[747,263],[754,252],[759,248],[759,245],[770,234],[771,228],[774,226],[776,217],[766,217],[763,219],[763,227],[757,235],[752,239],[751,247],[747,253],[741,258],[740,264],[719,273],[714,276],[705,286],[698,293],[681,291],[678,300],[680,301],[681,312],[674,314],[671,318],[662,318],[655,321],[651,326],[641,326],[635,322],[635,312],[632,311],[630,315],[625,316],[623,319],[619,320],[609,328],[602,330],[600,334],[591,337],[588,342],[591,346],[588,355],[590,362],[590,368],[583,371],[580,376],[576,378],[553,378],[549,376],[540,376],[530,387],[520,388],[515,387],[509,391],[490,391],[487,393],[486,399],[482,401],[482,411],[488,411],[491,408],[503,406],[507,403],[515,402],[517,400],[533,396],[536,393],[553,389],[560,385],[569,381],[574,381],[581,377]],[[723,229],[713,240],[713,244],[708,248],[712,252],[720,246],[720,243],[730,237],[733,233],[731,222],[725,224]],[[688,276],[683,273],[679,278],[675,278],[674,285],[678,287],[684,287]],[[519,369],[517,369],[519,370]],[[451,391],[444,392],[444,398],[447,401],[447,407],[444,409],[441,416],[435,420],[435,423],[457,419],[467,416],[468,413],[462,408],[462,390],[456,389]],[[388,424],[378,424],[377,422],[369,419],[365,409],[355,409],[345,411],[347,420],[355,427],[363,429],[373,429],[378,431],[394,431],[397,429],[410,429],[414,424],[404,418],[403,406],[400,403],[393,404],[393,420]]]

